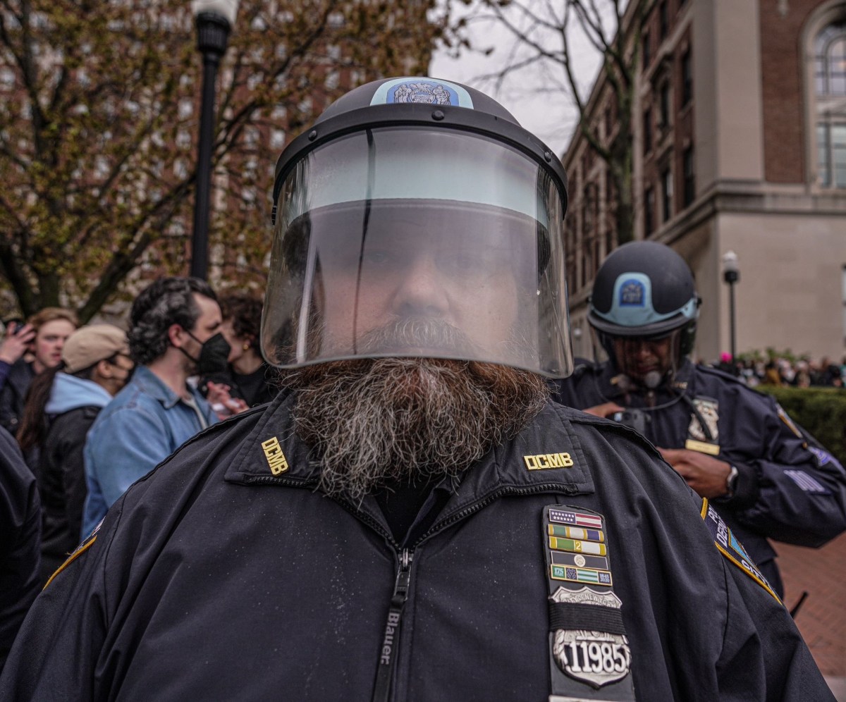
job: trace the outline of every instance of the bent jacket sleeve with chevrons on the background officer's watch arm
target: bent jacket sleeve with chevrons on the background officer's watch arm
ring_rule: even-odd
[[[736,436],[725,460],[732,463],[730,456],[739,456],[738,490],[719,502],[739,522],[772,539],[822,546],[846,529],[846,471],[831,454],[811,447],[772,398],[764,400],[761,408],[744,410],[766,413],[763,438],[749,434],[751,425],[733,427]],[[758,457],[751,451],[756,441],[765,442]]]

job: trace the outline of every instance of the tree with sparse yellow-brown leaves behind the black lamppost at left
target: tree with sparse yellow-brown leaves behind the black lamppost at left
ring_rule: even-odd
[[[445,16],[434,0],[242,0],[217,82],[220,287],[265,276],[280,135],[354,85],[425,73]],[[22,313],[86,321],[138,278],[187,273],[200,91],[184,0],[0,0],[0,273]]]

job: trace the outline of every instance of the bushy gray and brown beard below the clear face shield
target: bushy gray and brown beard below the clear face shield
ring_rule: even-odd
[[[540,376],[448,359],[354,359],[306,366],[294,426],[321,461],[321,487],[353,501],[388,480],[453,479],[527,425],[547,400]]]

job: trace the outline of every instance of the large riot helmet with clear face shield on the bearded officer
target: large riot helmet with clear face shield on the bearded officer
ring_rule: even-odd
[[[563,166],[478,90],[394,78],[350,91],[283,151],[273,202],[272,364],[572,370]]]

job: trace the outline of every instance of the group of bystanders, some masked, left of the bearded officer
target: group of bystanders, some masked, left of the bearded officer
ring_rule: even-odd
[[[55,307],[4,324],[0,418],[36,476],[39,584],[135,480],[206,426],[275,395],[255,351],[261,306],[249,293],[218,304],[205,282],[173,277],[140,293],[129,334],[79,326]]]

